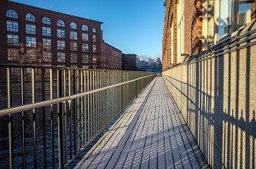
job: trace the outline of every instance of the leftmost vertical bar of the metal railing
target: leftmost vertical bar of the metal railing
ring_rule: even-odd
[[[8,107],[12,107],[12,72],[11,68],[7,68],[7,95],[8,95]],[[13,145],[13,128],[12,128],[12,115],[9,115],[9,168],[14,168],[14,145]]]

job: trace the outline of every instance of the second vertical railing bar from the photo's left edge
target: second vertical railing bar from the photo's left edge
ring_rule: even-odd
[[[20,100],[21,105],[25,104],[24,68],[20,68]],[[26,127],[24,111],[21,112],[22,125],[22,166],[26,168]]]

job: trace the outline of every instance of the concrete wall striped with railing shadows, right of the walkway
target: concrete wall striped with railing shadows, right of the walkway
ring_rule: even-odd
[[[240,35],[255,28],[253,21]],[[255,43],[230,52],[249,42]],[[210,59],[176,65],[163,72],[212,168],[256,168],[255,44],[254,38],[224,49],[224,54],[213,54]]]

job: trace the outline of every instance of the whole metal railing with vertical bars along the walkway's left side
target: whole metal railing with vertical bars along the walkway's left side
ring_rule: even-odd
[[[8,143],[0,146],[0,153],[9,152],[8,158],[0,157],[2,165],[64,168],[106,132],[155,76],[134,71],[0,65],[0,124],[3,131],[9,131],[0,134],[7,141],[1,144]]]

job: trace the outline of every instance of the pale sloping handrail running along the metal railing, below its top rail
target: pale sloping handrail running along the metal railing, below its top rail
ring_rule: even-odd
[[[154,76],[154,74],[149,75],[149,76]],[[49,99],[49,100],[41,101],[41,102],[37,102],[37,103],[25,104],[25,105],[20,105],[20,106],[17,106],[17,107],[3,109],[3,110],[0,110],[0,117],[4,116],[4,115],[13,115],[13,114],[21,112],[21,111],[26,111],[26,110],[37,109],[37,108],[40,108],[40,107],[45,107],[45,106],[48,106],[48,105],[51,105],[51,104],[58,104],[58,103],[61,103],[61,102],[66,102],[66,101],[69,101],[69,100],[72,100],[72,99],[78,99],[78,98],[84,97],[86,95],[89,95],[91,93],[97,93],[97,92],[101,92],[101,91],[109,89],[109,88],[119,87],[121,85],[130,83],[130,82],[136,82],[140,79],[144,79],[144,78],[147,78],[149,76],[139,77],[139,78],[133,79],[131,81],[120,82],[118,84],[114,84],[114,85],[111,85],[111,86],[108,86],[108,87],[102,87],[102,88],[98,88],[98,89],[91,90],[91,91],[88,91],[88,92],[73,94],[71,96],[65,96],[65,97],[61,97],[61,98],[58,98],[58,99]]]

